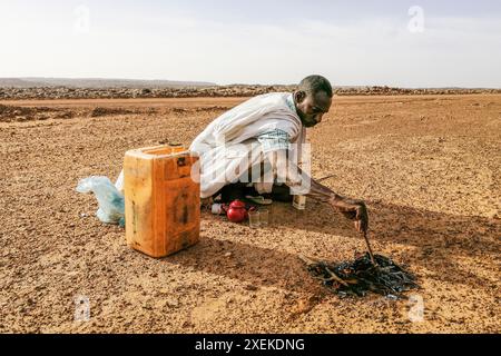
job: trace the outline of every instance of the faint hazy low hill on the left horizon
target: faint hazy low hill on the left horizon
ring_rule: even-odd
[[[217,86],[204,81],[174,81],[174,80],[135,80],[135,79],[100,79],[100,78],[0,78],[2,88],[207,88]]]

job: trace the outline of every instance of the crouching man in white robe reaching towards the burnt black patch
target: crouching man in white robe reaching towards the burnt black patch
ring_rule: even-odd
[[[306,128],[322,121],[332,105],[327,79],[310,76],[292,93],[254,97],[214,120],[190,145],[199,155],[202,198],[226,201],[247,195],[291,201],[306,195],[328,204],[364,233],[369,216],[362,200],[343,197],[308,174]]]

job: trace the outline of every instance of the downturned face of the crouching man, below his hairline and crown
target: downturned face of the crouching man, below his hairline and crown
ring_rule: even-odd
[[[332,98],[325,91],[306,95],[304,91],[294,92],[297,115],[305,127],[314,127],[322,121],[324,113],[328,112]]]

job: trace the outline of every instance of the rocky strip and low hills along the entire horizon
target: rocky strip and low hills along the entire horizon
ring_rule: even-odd
[[[30,99],[128,99],[254,97],[296,90],[293,85],[229,85],[200,81],[130,79],[0,78],[0,100]],[[394,88],[387,86],[336,86],[337,96],[466,95],[501,93],[501,89]]]

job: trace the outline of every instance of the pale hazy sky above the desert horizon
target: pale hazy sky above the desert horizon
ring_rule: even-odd
[[[0,77],[501,88],[501,1],[0,0]]]

